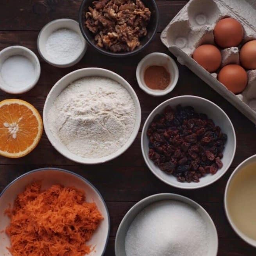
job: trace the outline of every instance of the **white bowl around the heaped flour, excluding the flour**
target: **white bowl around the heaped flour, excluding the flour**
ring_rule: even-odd
[[[54,137],[54,135],[50,131],[50,128],[48,126],[48,120],[47,120],[47,113],[48,113],[50,107],[54,103],[57,96],[64,90],[64,88],[66,88],[71,82],[73,82],[77,79],[81,79],[83,77],[90,77],[90,76],[107,77],[109,79],[113,79],[114,81],[116,81],[119,84],[121,84],[122,86],[124,86],[124,88],[130,93],[130,95],[134,101],[135,109],[136,109],[135,125],[134,125],[134,129],[132,131],[130,138],[126,141],[126,143],[124,144],[123,147],[118,149],[113,154],[110,154],[109,156],[105,156],[102,158],[83,158],[81,156],[77,156],[77,155],[73,154],[72,152],[70,152],[66,148],[66,146],[63,145],[63,143],[61,143],[59,140],[57,140]],[[77,163],[83,163],[83,164],[104,163],[104,162],[107,162],[111,159],[114,159],[114,158],[120,156],[122,153],[125,152],[125,150],[127,150],[131,146],[132,142],[135,140],[135,138],[138,134],[138,131],[140,129],[140,122],[141,122],[140,102],[139,102],[139,99],[138,99],[135,91],[132,89],[131,85],[127,81],[125,81],[125,79],[122,78],[120,75],[118,75],[112,71],[102,69],[102,68],[82,68],[82,69],[75,70],[75,71],[65,75],[58,82],[56,82],[56,84],[53,86],[52,90],[50,90],[50,92],[46,98],[46,101],[45,101],[45,106],[43,108],[43,123],[44,123],[45,133],[46,133],[48,139],[50,140],[50,142],[52,143],[52,145],[55,147],[55,149],[57,151],[59,151],[59,153],[61,153],[66,158],[68,158],[72,161],[75,161]]]

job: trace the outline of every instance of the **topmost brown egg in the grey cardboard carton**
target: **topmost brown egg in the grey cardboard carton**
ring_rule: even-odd
[[[243,27],[237,20],[225,18],[218,21],[213,34],[218,46],[222,48],[234,47],[243,40]]]

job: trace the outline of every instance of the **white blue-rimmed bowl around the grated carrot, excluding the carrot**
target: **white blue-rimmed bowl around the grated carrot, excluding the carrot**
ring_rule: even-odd
[[[90,240],[90,244],[95,246],[95,250],[87,255],[103,256],[106,250],[110,229],[109,213],[106,203],[98,190],[89,181],[82,176],[67,170],[41,168],[27,172],[11,182],[0,194],[0,230],[4,231],[10,223],[9,218],[4,213],[5,209],[8,209],[10,205],[13,206],[17,195],[23,192],[25,187],[34,181],[41,181],[43,190],[54,184],[73,186],[77,189],[84,190],[86,194],[86,202],[95,202],[98,210],[104,217],[104,220],[102,220]],[[11,256],[11,253],[7,250],[7,247],[9,246],[9,237],[5,232],[0,232],[0,255]]]

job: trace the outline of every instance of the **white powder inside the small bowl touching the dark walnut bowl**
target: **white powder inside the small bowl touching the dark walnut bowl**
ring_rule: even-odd
[[[46,52],[50,61],[65,64],[74,61],[82,52],[82,40],[70,29],[54,31],[46,41]]]

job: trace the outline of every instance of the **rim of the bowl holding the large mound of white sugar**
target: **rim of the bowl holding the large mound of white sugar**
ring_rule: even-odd
[[[169,199],[161,199],[161,200],[158,200],[159,198],[161,197],[169,197]],[[145,205],[145,207],[143,209],[145,209],[147,206],[149,206],[150,204],[153,204],[154,202],[158,202],[158,201],[166,201],[166,200],[173,200],[173,201],[179,201],[179,199],[183,199],[183,200],[180,200],[181,202],[183,202],[184,204],[187,204],[187,205],[190,205],[188,204],[188,202],[190,202],[191,204],[193,204],[193,206],[195,207],[191,207],[194,208],[194,209],[201,209],[203,211],[203,213],[205,214],[205,216],[208,218],[210,224],[213,226],[213,232],[214,232],[214,235],[215,235],[215,238],[216,238],[216,254],[217,255],[217,252],[218,252],[218,233],[217,233],[217,229],[216,229],[216,226],[211,218],[211,216],[209,215],[209,213],[206,211],[206,209],[204,209],[199,203],[193,201],[192,199],[188,198],[188,197],[185,197],[183,195],[179,195],[179,194],[175,194],[175,193],[158,193],[158,194],[154,194],[154,195],[150,195],[148,197],[145,197],[143,199],[141,199],[139,202],[136,202],[136,204],[134,204],[128,211],[127,213],[125,213],[124,217],[122,218],[119,226],[118,226],[118,229],[116,231],[116,238],[115,238],[115,255],[116,256],[120,256],[117,254],[117,240],[118,240],[118,237],[120,236],[120,233],[122,232],[122,228],[123,228],[123,225],[125,223],[125,221],[127,220],[127,218],[129,217],[129,215],[136,210],[136,208],[138,208],[138,206],[140,206],[140,204],[143,204],[144,202],[147,202],[149,201],[149,204]],[[186,201],[186,202],[185,202]],[[141,209],[141,211],[143,210]],[[141,212],[140,211],[140,212]],[[140,213],[139,212],[139,213]],[[134,217],[135,218],[135,217]],[[132,222],[131,222],[132,223]],[[124,256],[124,255],[122,255]]]

